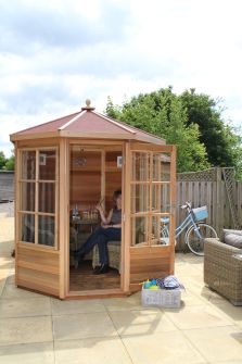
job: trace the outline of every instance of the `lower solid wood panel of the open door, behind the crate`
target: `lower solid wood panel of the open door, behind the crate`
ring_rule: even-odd
[[[130,291],[140,290],[147,279],[171,274],[170,254],[170,247],[130,248]]]

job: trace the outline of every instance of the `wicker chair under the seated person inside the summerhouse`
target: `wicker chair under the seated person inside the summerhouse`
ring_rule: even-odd
[[[117,269],[120,273],[120,241],[110,241],[107,242],[109,250],[109,264],[112,268]],[[92,254],[92,267],[94,268],[99,265],[99,249],[94,246]]]

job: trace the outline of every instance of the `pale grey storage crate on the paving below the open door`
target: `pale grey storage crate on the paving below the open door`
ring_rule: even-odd
[[[143,306],[178,309],[180,307],[180,288],[147,289],[142,287],[141,301]]]

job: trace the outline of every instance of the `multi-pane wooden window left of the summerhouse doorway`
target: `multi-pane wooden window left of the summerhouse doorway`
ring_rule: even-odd
[[[58,151],[21,150],[20,241],[56,247]]]

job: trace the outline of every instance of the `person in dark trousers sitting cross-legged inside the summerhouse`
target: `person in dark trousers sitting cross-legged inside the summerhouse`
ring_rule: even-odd
[[[109,272],[109,241],[119,241],[122,239],[122,191],[117,190],[113,194],[114,208],[111,209],[107,217],[99,203],[95,209],[100,213],[101,226],[98,227],[87,239],[84,246],[73,252],[78,261],[82,260],[95,244],[98,244],[100,266],[94,269],[94,274],[103,274]]]

